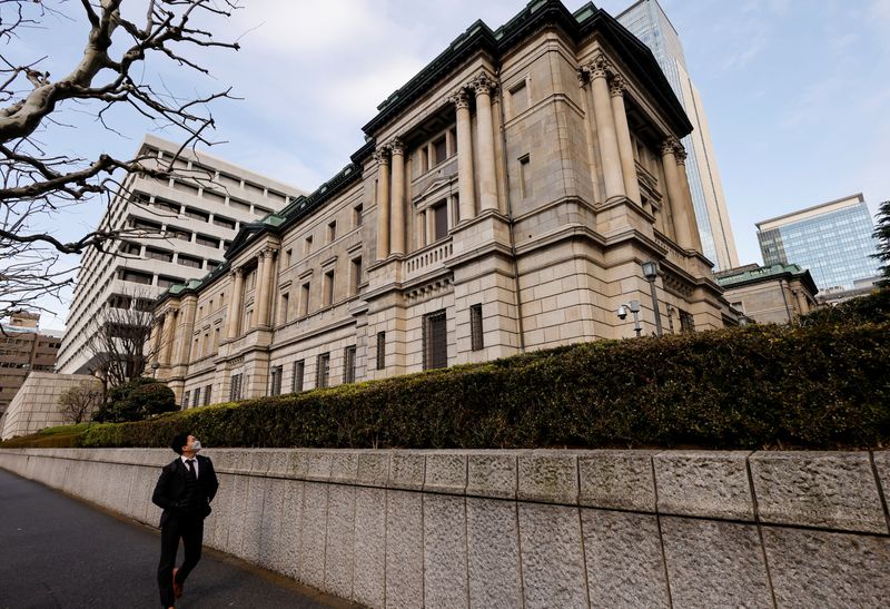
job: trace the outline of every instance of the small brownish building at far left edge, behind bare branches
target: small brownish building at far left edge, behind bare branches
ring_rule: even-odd
[[[0,416],[32,371],[52,372],[61,332],[40,330],[40,314],[19,312],[0,324]]]

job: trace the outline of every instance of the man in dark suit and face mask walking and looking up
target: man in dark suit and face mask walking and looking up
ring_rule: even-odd
[[[201,443],[197,438],[180,433],[170,448],[179,458],[161,470],[151,501],[164,509],[158,564],[160,602],[174,609],[175,599],[182,596],[186,578],[201,558],[204,519],[210,513],[210,501],[219,482],[214,463],[206,456],[198,456]],[[186,556],[182,566],[175,569],[180,538]]]

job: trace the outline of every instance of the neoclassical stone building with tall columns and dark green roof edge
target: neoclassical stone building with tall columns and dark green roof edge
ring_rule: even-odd
[[[188,405],[379,379],[633,336],[631,301],[650,334],[647,261],[665,328],[722,327],[690,129],[650,50],[592,4],[477,21],[343,171],[159,298],[157,375]]]

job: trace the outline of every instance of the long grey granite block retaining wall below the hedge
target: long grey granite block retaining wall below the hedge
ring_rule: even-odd
[[[372,607],[887,607],[890,452],[208,450],[205,542]],[[157,525],[165,450],[0,466]]]

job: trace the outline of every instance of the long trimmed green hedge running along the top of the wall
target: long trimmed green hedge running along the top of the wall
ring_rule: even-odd
[[[750,326],[93,425],[85,446],[883,448],[890,324]]]

